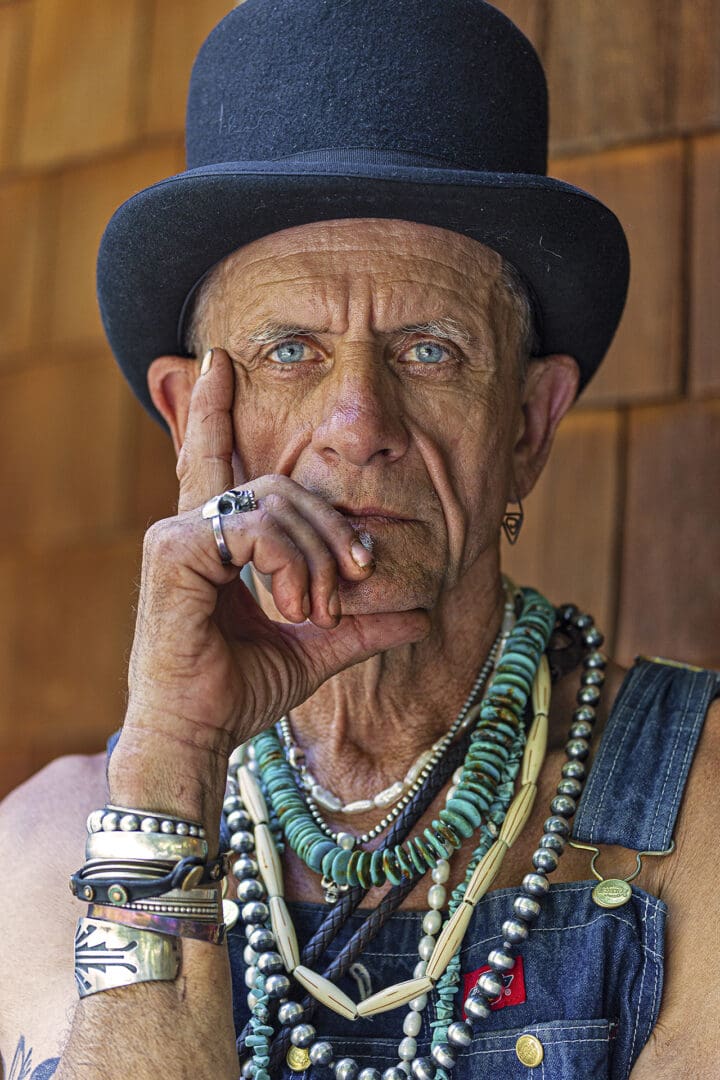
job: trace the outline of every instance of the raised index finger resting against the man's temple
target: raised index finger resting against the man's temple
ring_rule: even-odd
[[[192,510],[232,487],[235,376],[225,349],[210,349],[192,389],[188,426],[177,459],[178,511]]]

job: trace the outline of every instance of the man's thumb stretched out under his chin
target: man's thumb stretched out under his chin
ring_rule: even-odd
[[[378,652],[423,640],[430,633],[430,616],[420,609],[351,615],[343,616],[332,630],[312,623],[284,629],[305,654],[308,674],[316,689],[330,676]]]

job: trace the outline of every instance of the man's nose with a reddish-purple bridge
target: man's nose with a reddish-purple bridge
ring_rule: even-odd
[[[395,380],[369,352],[345,363],[338,357],[324,381],[323,417],[313,447],[328,463],[392,462],[408,448]]]

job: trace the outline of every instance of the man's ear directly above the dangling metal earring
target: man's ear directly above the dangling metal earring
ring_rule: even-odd
[[[522,392],[522,419],[513,450],[515,498],[532,491],[545,467],[558,423],[578,394],[580,368],[562,354],[530,361]]]

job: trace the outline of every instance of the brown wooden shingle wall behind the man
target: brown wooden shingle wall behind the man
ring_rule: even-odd
[[[720,0],[503,0],[546,66],[552,173],[607,201],[627,313],[508,570],[622,661],[720,666]],[[174,461],[104,343],[97,242],[182,167],[192,56],[231,0],[0,0],[0,795],[123,713],[139,550]]]

